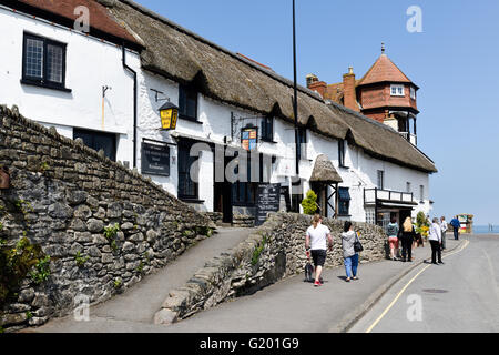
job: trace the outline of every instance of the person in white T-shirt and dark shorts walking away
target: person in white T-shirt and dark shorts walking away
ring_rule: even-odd
[[[315,266],[315,282],[314,286],[322,286],[323,280],[320,274],[327,257],[327,242],[329,242],[329,250],[333,248],[333,237],[330,231],[323,223],[319,214],[314,215],[312,225],[307,230],[305,237],[305,248],[312,250],[312,258]],[[326,241],[327,240],[327,241]]]

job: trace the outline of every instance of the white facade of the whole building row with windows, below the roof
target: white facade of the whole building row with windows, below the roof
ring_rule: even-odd
[[[130,1],[122,2],[130,6]],[[323,154],[342,181],[326,185],[319,197],[323,201],[318,202],[322,214],[383,225],[393,216],[401,220],[406,215],[415,217],[419,211],[429,213],[431,169],[370,154],[355,140],[335,139],[306,124],[299,128],[303,148],[299,180],[296,179],[295,125],[291,120],[284,120],[278,112],[269,114],[240,104],[236,99],[226,102],[202,93],[200,85],[153,72],[140,53],[141,45],[147,48],[147,39],[140,38],[131,27],[128,23],[126,29],[138,41],[133,43],[128,38],[130,48],[123,51],[123,44],[116,41],[0,7],[0,31],[8,33],[0,39],[8,53],[0,59],[0,102],[18,105],[23,115],[54,126],[62,135],[82,138],[91,148],[104,149],[111,159],[136,166],[195,209],[222,213],[227,223],[254,219],[258,186],[267,183],[281,184],[282,210],[303,212],[299,203],[308,190],[316,187],[310,175]],[[53,58],[49,61],[47,54],[42,58],[47,64],[59,68],[59,77],[47,69],[37,73],[37,68],[43,68],[37,62],[37,49],[53,54],[54,48],[63,51],[65,64],[57,67]],[[28,62],[31,69],[27,68]],[[57,83],[30,82],[26,75],[29,70],[31,79],[39,75]],[[251,70],[259,69],[253,65]],[[267,71],[264,73],[269,81],[281,80]],[[317,101],[304,88],[301,94]],[[161,130],[159,109],[165,101],[179,106],[175,130]],[[383,130],[386,131],[381,133],[388,134],[390,129]],[[238,150],[238,159],[226,153],[234,150]],[[247,164],[242,156],[251,155],[249,152],[254,154],[249,161],[256,163],[244,172]],[[410,154],[424,156],[416,148]],[[255,166],[259,170],[257,174]],[[247,175],[252,181],[234,182],[230,173]]]

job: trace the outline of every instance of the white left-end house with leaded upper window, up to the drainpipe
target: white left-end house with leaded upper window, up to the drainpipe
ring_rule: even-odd
[[[73,29],[62,7],[50,3],[48,12],[41,2],[0,1],[1,103],[64,136],[89,143],[93,135],[110,158],[131,163],[134,83],[122,65],[122,44],[138,69],[140,45],[110,18],[99,19],[109,33],[86,34]]]

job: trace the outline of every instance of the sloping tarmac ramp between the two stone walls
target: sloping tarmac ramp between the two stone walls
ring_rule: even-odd
[[[211,239],[189,248],[181,257],[139,284],[103,304],[91,307],[90,322],[75,322],[70,315],[52,320],[35,332],[161,332],[155,327],[154,314],[169,292],[183,286],[207,261],[245,240],[251,230],[220,229]],[[33,329],[28,329],[31,332]]]

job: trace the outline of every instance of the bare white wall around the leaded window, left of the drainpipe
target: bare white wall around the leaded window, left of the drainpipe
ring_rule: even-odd
[[[68,45],[65,88],[71,93],[21,84],[24,31]],[[132,161],[133,78],[122,67],[121,48],[4,8],[0,8],[0,103],[16,104],[24,116],[55,126],[69,138],[72,128],[119,134],[116,159]],[[128,61],[140,68],[136,53],[129,52]],[[104,85],[112,90],[105,94],[103,119]]]

